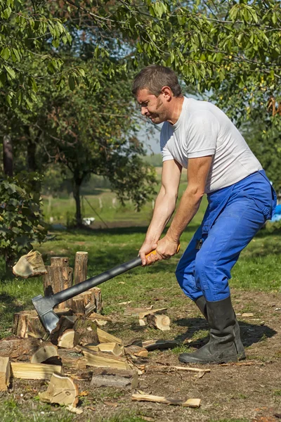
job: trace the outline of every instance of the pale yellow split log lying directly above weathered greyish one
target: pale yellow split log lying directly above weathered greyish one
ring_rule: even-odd
[[[109,367],[116,369],[131,369],[124,357],[112,356],[112,354],[105,352],[95,352],[88,349],[88,347],[77,347],[82,350],[88,366],[96,366],[97,368]]]

